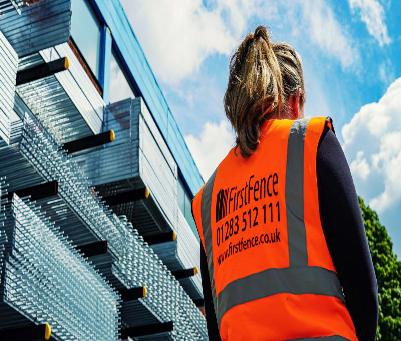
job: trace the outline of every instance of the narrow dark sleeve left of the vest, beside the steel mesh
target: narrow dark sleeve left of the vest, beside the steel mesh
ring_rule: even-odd
[[[202,276],[202,289],[204,292],[206,324],[208,326],[209,340],[221,341],[215,308],[213,306],[212,288],[210,285],[210,277],[208,271],[208,261],[206,259],[205,250],[202,244],[200,245],[200,275]]]

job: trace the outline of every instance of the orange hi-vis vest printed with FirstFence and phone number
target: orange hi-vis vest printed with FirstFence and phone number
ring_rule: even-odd
[[[263,122],[254,154],[233,148],[192,201],[223,341],[357,341],[320,221],[326,125]]]

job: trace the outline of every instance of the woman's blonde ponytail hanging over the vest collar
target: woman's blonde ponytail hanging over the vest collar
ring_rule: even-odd
[[[263,116],[281,111],[283,82],[273,47],[267,29],[258,26],[230,60],[224,108],[237,133],[235,150],[245,159],[259,144]]]

